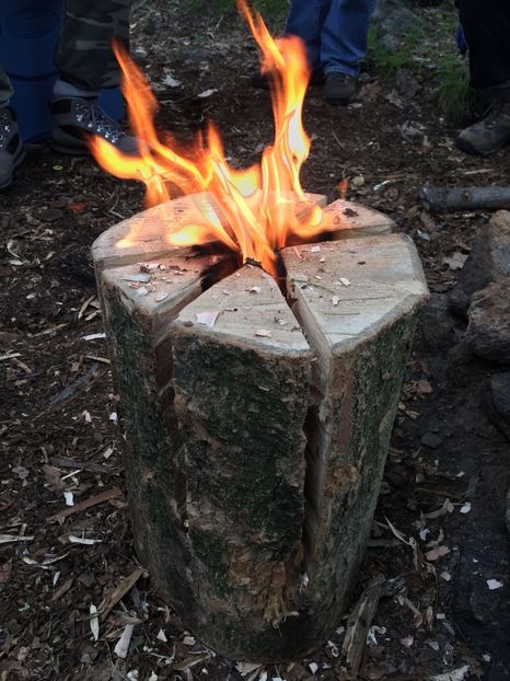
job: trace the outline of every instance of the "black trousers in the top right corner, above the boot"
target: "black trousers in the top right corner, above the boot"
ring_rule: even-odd
[[[457,0],[473,88],[510,81],[510,0]]]

